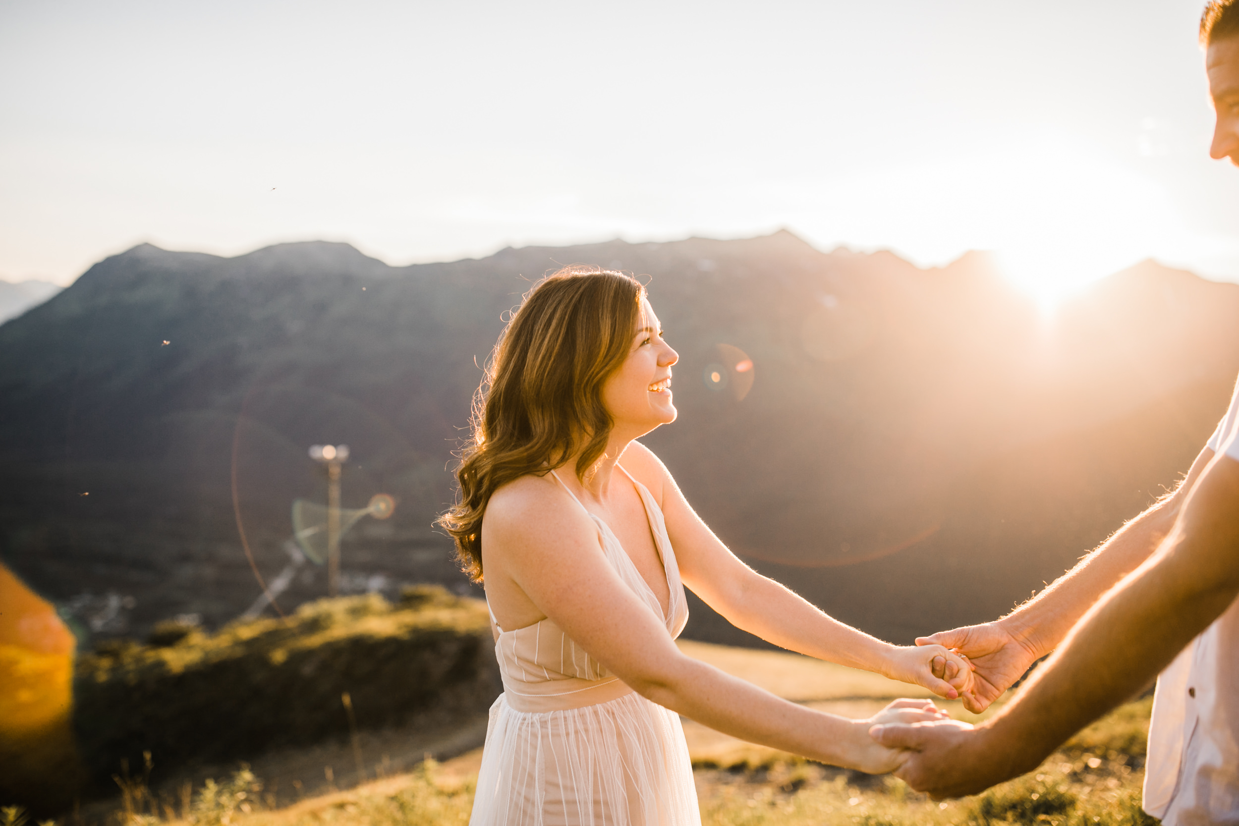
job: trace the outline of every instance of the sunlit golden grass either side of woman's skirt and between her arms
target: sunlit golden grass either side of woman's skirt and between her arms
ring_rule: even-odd
[[[795,654],[681,643],[685,653],[814,707],[857,716],[916,687]],[[919,692],[919,693],[918,693]],[[948,703],[949,705],[949,703]],[[686,723],[703,822],[707,826],[1119,826],[1154,822],[1140,811],[1149,698],[1120,707],[1037,772],[966,800],[935,802],[895,778],[814,764]],[[694,742],[694,738],[695,742]],[[730,749],[730,750],[729,750]],[[427,760],[411,772],[281,805],[253,773],[239,772],[160,810],[155,796],[100,826],[420,826],[466,824],[481,749]],[[141,804],[140,795],[138,796]],[[159,811],[156,811],[159,810]]]

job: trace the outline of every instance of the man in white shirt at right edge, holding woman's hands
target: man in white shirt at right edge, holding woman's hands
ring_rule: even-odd
[[[1201,42],[1217,111],[1211,154],[1239,166],[1239,0],[1209,2]],[[971,659],[971,711],[1057,648],[1014,702],[976,728],[918,723],[871,734],[912,752],[897,774],[913,788],[935,798],[974,794],[1036,768],[1161,672],[1145,809],[1173,826],[1239,822],[1237,594],[1239,386],[1172,495],[1011,615],[918,640]]]

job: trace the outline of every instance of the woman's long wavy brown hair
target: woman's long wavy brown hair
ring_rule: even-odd
[[[566,266],[525,293],[499,336],[473,398],[472,436],[456,469],[460,495],[436,520],[475,582],[491,495],[572,456],[584,482],[606,451],[613,422],[602,385],[628,355],[644,295],[623,272]]]

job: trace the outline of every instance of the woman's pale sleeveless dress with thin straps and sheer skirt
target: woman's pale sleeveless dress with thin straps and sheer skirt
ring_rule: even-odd
[[[555,479],[580,505],[564,480]],[[643,484],[632,483],[667,572],[668,615],[606,523],[581,509],[597,525],[598,544],[620,578],[674,639],[689,615],[680,571],[658,503]],[[491,622],[503,693],[491,706],[470,826],[701,822],[675,712],[608,674],[550,619],[507,632],[493,613]]]

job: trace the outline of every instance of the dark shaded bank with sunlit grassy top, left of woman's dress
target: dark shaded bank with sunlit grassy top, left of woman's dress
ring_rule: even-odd
[[[484,606],[431,587],[396,606],[375,594],[306,603],[214,634],[164,625],[151,644],[78,658],[78,749],[107,788],[123,763],[152,762],[159,781],[427,712],[484,712],[499,692],[492,651]]]

